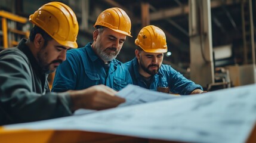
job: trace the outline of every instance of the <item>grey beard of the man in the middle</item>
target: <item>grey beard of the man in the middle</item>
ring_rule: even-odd
[[[100,38],[100,37],[99,37]],[[101,38],[100,38],[101,39]],[[119,54],[119,51],[115,47],[109,47],[103,50],[103,46],[101,45],[100,39],[98,39],[95,42],[94,49],[96,54],[103,60],[103,61],[112,61],[116,58],[116,56]],[[110,54],[107,53],[107,50],[115,50],[115,52],[110,52]]]

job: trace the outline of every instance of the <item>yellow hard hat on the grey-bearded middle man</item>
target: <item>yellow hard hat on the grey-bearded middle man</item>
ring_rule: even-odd
[[[104,10],[94,24],[96,26],[104,26],[115,32],[131,36],[131,20],[127,13],[121,8],[109,8]]]

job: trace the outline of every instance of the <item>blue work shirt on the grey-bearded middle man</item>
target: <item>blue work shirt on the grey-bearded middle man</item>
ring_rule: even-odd
[[[95,54],[91,43],[88,43],[83,48],[67,51],[66,61],[55,72],[52,91],[81,90],[100,84],[120,91],[132,84],[132,79],[127,67],[118,60],[110,61],[109,71],[106,73],[103,60]]]

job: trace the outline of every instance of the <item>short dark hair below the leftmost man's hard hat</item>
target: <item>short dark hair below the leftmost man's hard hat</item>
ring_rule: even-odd
[[[47,46],[48,41],[51,41],[53,38],[48,35],[48,33],[46,33],[44,30],[42,30],[40,27],[38,26],[34,26],[31,30],[30,30],[30,34],[29,34],[29,40],[30,41],[35,41],[35,36],[36,34],[41,34],[42,38],[44,38],[44,46]]]

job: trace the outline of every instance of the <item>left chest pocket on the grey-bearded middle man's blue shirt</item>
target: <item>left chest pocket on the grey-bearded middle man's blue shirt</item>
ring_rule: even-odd
[[[97,73],[92,73],[91,71],[88,71],[88,70],[85,70],[85,73],[87,74],[87,77],[88,77],[88,79],[87,78],[83,79],[85,88],[98,85],[98,82],[100,80],[100,75],[98,75]]]

